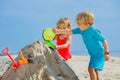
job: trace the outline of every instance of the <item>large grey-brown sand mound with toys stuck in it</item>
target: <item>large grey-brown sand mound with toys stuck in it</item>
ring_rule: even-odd
[[[11,64],[1,80],[78,80],[57,52],[41,41],[24,47],[22,52],[29,63],[19,66],[16,70]],[[15,60],[20,60],[20,55]]]

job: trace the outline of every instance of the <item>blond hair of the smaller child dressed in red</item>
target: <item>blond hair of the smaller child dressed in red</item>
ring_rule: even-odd
[[[60,29],[60,27],[66,27],[67,29],[71,29],[71,22],[68,18],[61,18],[57,22],[57,29]]]

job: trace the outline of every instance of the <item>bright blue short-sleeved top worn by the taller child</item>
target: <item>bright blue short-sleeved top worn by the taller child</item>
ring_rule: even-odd
[[[102,42],[105,40],[105,38],[101,35],[100,31],[93,26],[90,26],[83,31],[80,28],[75,28],[72,29],[72,33],[82,35],[83,41],[90,55],[104,52]]]

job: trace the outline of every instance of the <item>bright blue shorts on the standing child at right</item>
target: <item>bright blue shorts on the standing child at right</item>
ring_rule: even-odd
[[[103,53],[97,53],[90,56],[89,67],[95,70],[102,71],[105,64],[105,58]]]

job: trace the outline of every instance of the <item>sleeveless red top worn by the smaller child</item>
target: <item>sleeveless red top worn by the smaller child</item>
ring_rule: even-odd
[[[60,39],[60,34],[57,35],[57,45],[63,45],[66,43],[67,37],[69,35],[66,35],[63,39]],[[70,44],[66,48],[58,49],[57,50],[60,56],[62,56],[63,59],[71,59],[71,53],[70,53]]]

